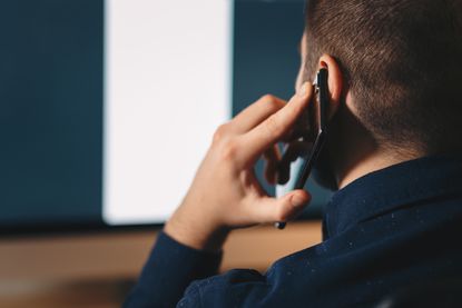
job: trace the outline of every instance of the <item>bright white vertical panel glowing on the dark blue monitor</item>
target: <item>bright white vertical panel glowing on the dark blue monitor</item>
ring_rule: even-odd
[[[104,219],[163,222],[230,115],[230,0],[107,0]]]

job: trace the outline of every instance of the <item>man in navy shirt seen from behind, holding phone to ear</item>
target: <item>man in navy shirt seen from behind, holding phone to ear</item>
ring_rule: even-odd
[[[288,103],[265,96],[218,128],[127,307],[373,307],[461,277],[462,1],[308,1],[301,53]],[[253,166],[264,156],[274,183],[275,145],[291,139],[320,68],[335,116],[318,171],[338,189],[324,241],[265,275],[214,276],[233,229],[291,220],[309,201],[268,197]]]

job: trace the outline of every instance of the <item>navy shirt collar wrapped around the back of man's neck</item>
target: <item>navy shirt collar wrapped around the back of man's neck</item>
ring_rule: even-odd
[[[462,160],[425,157],[371,172],[338,190],[325,208],[325,237],[405,205],[462,191]]]

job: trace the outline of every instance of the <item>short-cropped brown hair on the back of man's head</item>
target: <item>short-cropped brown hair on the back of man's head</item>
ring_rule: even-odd
[[[308,0],[305,79],[333,56],[384,145],[462,145],[462,0]]]

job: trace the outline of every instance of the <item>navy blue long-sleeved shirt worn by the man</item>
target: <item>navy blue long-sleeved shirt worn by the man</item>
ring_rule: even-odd
[[[355,180],[326,206],[323,234],[264,275],[219,276],[220,255],[160,234],[126,307],[373,307],[409,286],[462,277],[462,161],[422,158]]]

